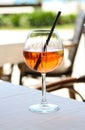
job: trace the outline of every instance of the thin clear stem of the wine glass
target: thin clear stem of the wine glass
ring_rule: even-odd
[[[46,74],[42,73],[42,100],[41,104],[47,104],[47,99],[46,99]]]

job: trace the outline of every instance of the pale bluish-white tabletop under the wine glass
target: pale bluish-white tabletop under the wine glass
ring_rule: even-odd
[[[39,103],[41,91],[0,80],[0,130],[85,130],[85,104],[47,93],[60,110],[36,114],[29,105]]]

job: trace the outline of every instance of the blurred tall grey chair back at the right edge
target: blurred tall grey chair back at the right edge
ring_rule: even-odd
[[[85,12],[80,11],[75,21],[75,29],[74,29],[73,39],[72,39],[73,46],[69,48],[69,59],[72,62],[71,70],[73,68],[73,63],[80,43],[81,35],[82,33],[85,33],[83,32],[84,23],[85,23]]]

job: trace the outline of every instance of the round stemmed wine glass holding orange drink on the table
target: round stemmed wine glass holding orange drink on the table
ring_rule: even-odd
[[[25,63],[33,71],[40,72],[42,76],[42,99],[40,104],[34,104],[29,110],[37,113],[50,113],[58,111],[56,104],[49,104],[46,99],[46,73],[56,69],[64,55],[62,40],[54,30],[48,44],[47,37],[50,30],[34,29],[27,36],[23,55]]]

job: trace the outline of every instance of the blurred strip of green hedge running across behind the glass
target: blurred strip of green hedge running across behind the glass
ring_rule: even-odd
[[[44,12],[36,10],[30,14],[6,14],[0,15],[0,27],[49,27],[53,24],[56,14],[53,12]],[[70,14],[60,16],[58,24],[74,23],[76,15]]]

